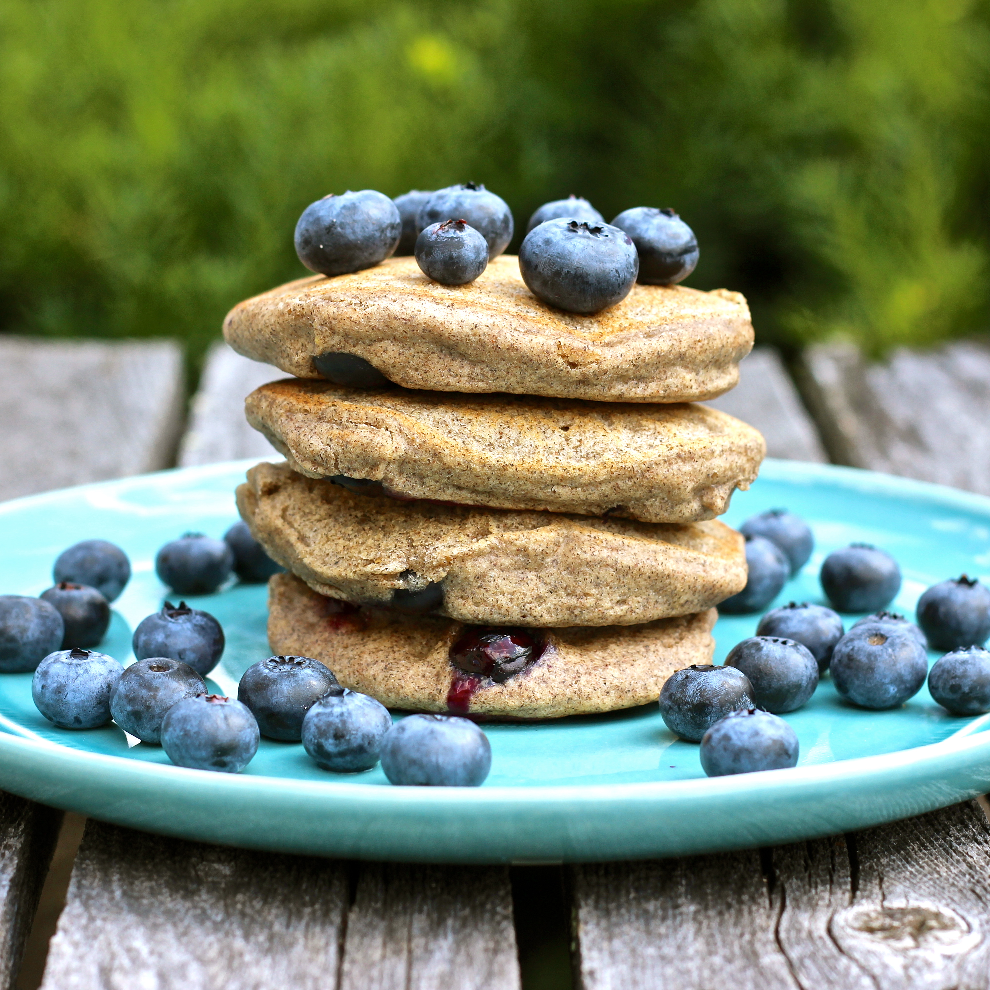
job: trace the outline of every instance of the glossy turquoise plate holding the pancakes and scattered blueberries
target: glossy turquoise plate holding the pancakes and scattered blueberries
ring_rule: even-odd
[[[220,536],[235,520],[245,463],[167,471],[0,505],[0,592],[38,594],[55,555],[101,537],[130,553],[106,652],[127,662],[131,630],[160,606],[155,550],[179,534]],[[823,601],[817,574],[834,547],[880,545],[904,571],[895,607],[913,612],[935,581],[990,574],[990,499],[848,468],[767,461],[737,494],[730,523],[786,506],[813,526],[815,555],[779,602]],[[228,646],[215,687],[236,694],[268,654],[263,587],[195,600]],[[850,621],[853,617],[848,617]],[[716,627],[723,658],[756,617]],[[0,675],[0,788],[59,808],[203,841],[378,859],[534,862],[678,855],[793,841],[919,814],[990,788],[990,716],[948,716],[923,690],[903,708],[843,704],[826,677],[787,716],[801,742],[790,770],[707,779],[698,747],[677,741],[654,705],[540,725],[490,725],[480,788],[392,787],[380,769],[322,771],[301,745],[262,742],[238,775],[172,766],[115,727],[53,729],[30,674]]]

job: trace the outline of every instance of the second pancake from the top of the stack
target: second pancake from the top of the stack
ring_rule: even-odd
[[[706,406],[364,390],[290,379],[251,392],[247,422],[312,478],[389,494],[647,523],[720,516],[756,477],[758,431]]]

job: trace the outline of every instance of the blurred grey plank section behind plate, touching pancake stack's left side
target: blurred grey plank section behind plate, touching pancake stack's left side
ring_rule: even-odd
[[[240,457],[280,460],[281,454],[247,426],[245,398],[259,385],[284,377],[278,368],[243,357],[226,344],[211,347],[179,447],[180,466]]]

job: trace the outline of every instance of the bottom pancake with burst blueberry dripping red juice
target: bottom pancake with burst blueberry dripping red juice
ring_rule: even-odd
[[[674,670],[712,662],[716,618],[708,609],[641,626],[520,630],[519,642],[535,643],[532,662],[510,657],[489,676],[451,662],[452,647],[462,657],[471,634],[487,627],[350,605],[289,573],[268,584],[273,652],[321,660],[345,687],[389,708],[480,719],[556,719],[656,701]]]

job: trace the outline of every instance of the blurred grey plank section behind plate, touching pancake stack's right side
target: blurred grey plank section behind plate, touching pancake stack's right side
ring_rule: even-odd
[[[740,383],[707,405],[737,416],[766,439],[770,457],[828,460],[815,424],[771,347],[756,347],[740,365]]]

